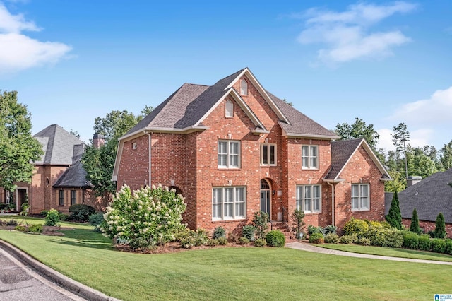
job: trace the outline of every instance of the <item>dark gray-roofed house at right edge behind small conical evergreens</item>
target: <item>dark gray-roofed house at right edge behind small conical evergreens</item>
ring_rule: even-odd
[[[405,227],[411,224],[412,211],[416,208],[419,225],[424,232],[435,229],[436,217],[443,213],[447,236],[452,238],[452,168],[436,172],[398,193],[400,213]],[[393,194],[386,194],[386,214]]]

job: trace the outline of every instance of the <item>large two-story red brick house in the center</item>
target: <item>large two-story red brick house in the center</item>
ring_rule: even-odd
[[[158,105],[119,138],[112,180],[176,189],[191,229],[239,232],[260,210],[287,221],[295,208],[307,225],[382,220],[388,173],[364,140],[337,138],[245,68]]]

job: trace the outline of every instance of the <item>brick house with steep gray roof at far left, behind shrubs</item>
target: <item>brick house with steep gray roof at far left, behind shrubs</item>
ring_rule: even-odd
[[[13,202],[16,208],[25,201],[30,204],[30,213],[55,208],[68,213],[75,203],[95,202],[86,172],[81,165],[85,145],[81,140],[57,124],[47,126],[34,137],[42,144],[44,155],[35,165],[31,183],[16,183],[13,197],[9,191],[0,189],[0,199],[4,203]]]

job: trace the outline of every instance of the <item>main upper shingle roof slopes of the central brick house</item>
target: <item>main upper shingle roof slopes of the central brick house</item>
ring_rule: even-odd
[[[222,78],[215,85],[194,85],[186,83],[182,85],[169,98],[158,105],[153,112],[148,114],[141,122],[133,126],[126,133],[141,131],[146,127],[153,129],[185,129],[194,126],[200,119],[220,100],[231,83],[245,69],[241,69],[230,76]],[[290,124],[280,122],[283,129],[290,134],[306,136],[324,136],[325,138],[336,138],[335,134],[325,129],[320,124],[309,119],[306,115],[287,105],[283,100],[268,93],[271,101],[285,114]]]

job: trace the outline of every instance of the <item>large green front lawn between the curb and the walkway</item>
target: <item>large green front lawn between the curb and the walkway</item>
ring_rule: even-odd
[[[131,254],[92,230],[65,234],[0,230],[0,239],[122,300],[432,300],[452,292],[450,266],[283,248]]]

